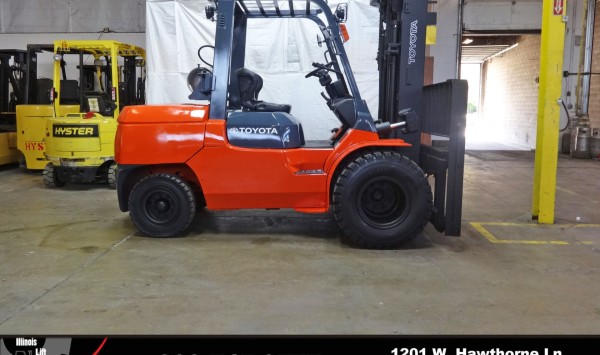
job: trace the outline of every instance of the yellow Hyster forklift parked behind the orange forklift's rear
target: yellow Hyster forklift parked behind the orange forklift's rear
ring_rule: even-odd
[[[113,40],[55,41],[53,117],[45,126],[47,187],[95,181],[116,187],[116,117],[125,106],[145,102],[145,57],[143,48]],[[75,78],[68,77],[69,59],[78,69]],[[60,114],[63,105],[77,111]]]

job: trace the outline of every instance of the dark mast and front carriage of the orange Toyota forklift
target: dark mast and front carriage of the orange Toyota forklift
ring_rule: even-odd
[[[435,178],[431,223],[446,235],[459,236],[467,113],[467,82],[448,80],[424,86],[425,37],[436,14],[429,1],[371,0],[379,6],[379,118],[398,119],[411,108],[420,124],[414,132],[392,135],[412,146],[404,154]],[[440,139],[441,138],[441,139]]]

